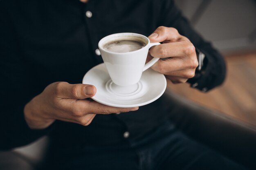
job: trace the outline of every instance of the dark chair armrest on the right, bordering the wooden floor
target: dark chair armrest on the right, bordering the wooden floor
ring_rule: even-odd
[[[177,128],[247,168],[256,169],[256,127],[171,91],[166,91],[164,97],[171,102],[168,113]]]

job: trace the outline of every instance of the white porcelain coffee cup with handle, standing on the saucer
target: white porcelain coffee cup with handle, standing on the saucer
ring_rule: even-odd
[[[118,40],[138,40],[143,42],[145,46],[136,51],[122,53],[104,49],[104,45]],[[145,64],[150,47],[159,44],[159,42],[151,43],[146,36],[141,34],[116,33],[102,38],[98,45],[101,57],[112,81],[119,86],[130,86],[139,82],[142,72],[153,66],[159,60],[159,58],[154,57]]]

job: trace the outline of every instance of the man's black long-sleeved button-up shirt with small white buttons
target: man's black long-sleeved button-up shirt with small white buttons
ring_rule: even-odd
[[[222,83],[222,56],[191,28],[173,0],[1,0],[0,148],[45,134],[64,146],[112,145],[136,140],[168,119],[162,97],[135,112],[97,115],[89,126],[55,121],[45,130],[31,130],[23,116],[25,104],[50,83],[81,83],[102,62],[95,53],[101,38],[120,32],[148,36],[158,26],[175,27],[206,55],[203,74],[189,82],[200,90]]]

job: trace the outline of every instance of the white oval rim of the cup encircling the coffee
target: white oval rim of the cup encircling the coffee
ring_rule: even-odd
[[[110,38],[110,37],[113,37],[113,36],[118,36],[118,35],[135,35],[135,36],[137,36],[137,37],[145,38],[145,39],[148,41],[148,43],[147,43],[144,47],[142,47],[141,49],[138,49],[138,50],[135,50],[135,51],[130,51],[130,52],[124,52],[124,53],[118,53],[118,52],[107,51],[107,50],[105,50],[105,49],[102,48],[102,44],[106,41],[106,39],[108,39],[108,38]],[[144,50],[144,48],[145,48],[146,46],[148,46],[149,43],[150,43],[150,40],[149,40],[145,35],[142,35],[142,34],[138,34],[138,33],[114,33],[114,34],[107,35],[107,36],[104,37],[104,38],[101,38],[101,40],[100,40],[99,43],[98,43],[98,47],[99,47],[100,50],[105,51],[105,52],[107,52],[107,53],[119,54],[119,55],[120,55],[120,54],[137,53],[138,51]]]

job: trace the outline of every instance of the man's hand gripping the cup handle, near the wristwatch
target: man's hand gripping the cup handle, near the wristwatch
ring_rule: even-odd
[[[195,47],[188,38],[180,35],[175,28],[159,26],[149,37],[150,42],[163,42],[153,46],[148,53],[152,57],[163,58],[151,68],[166,75],[173,83],[184,83],[194,77],[198,60]]]

